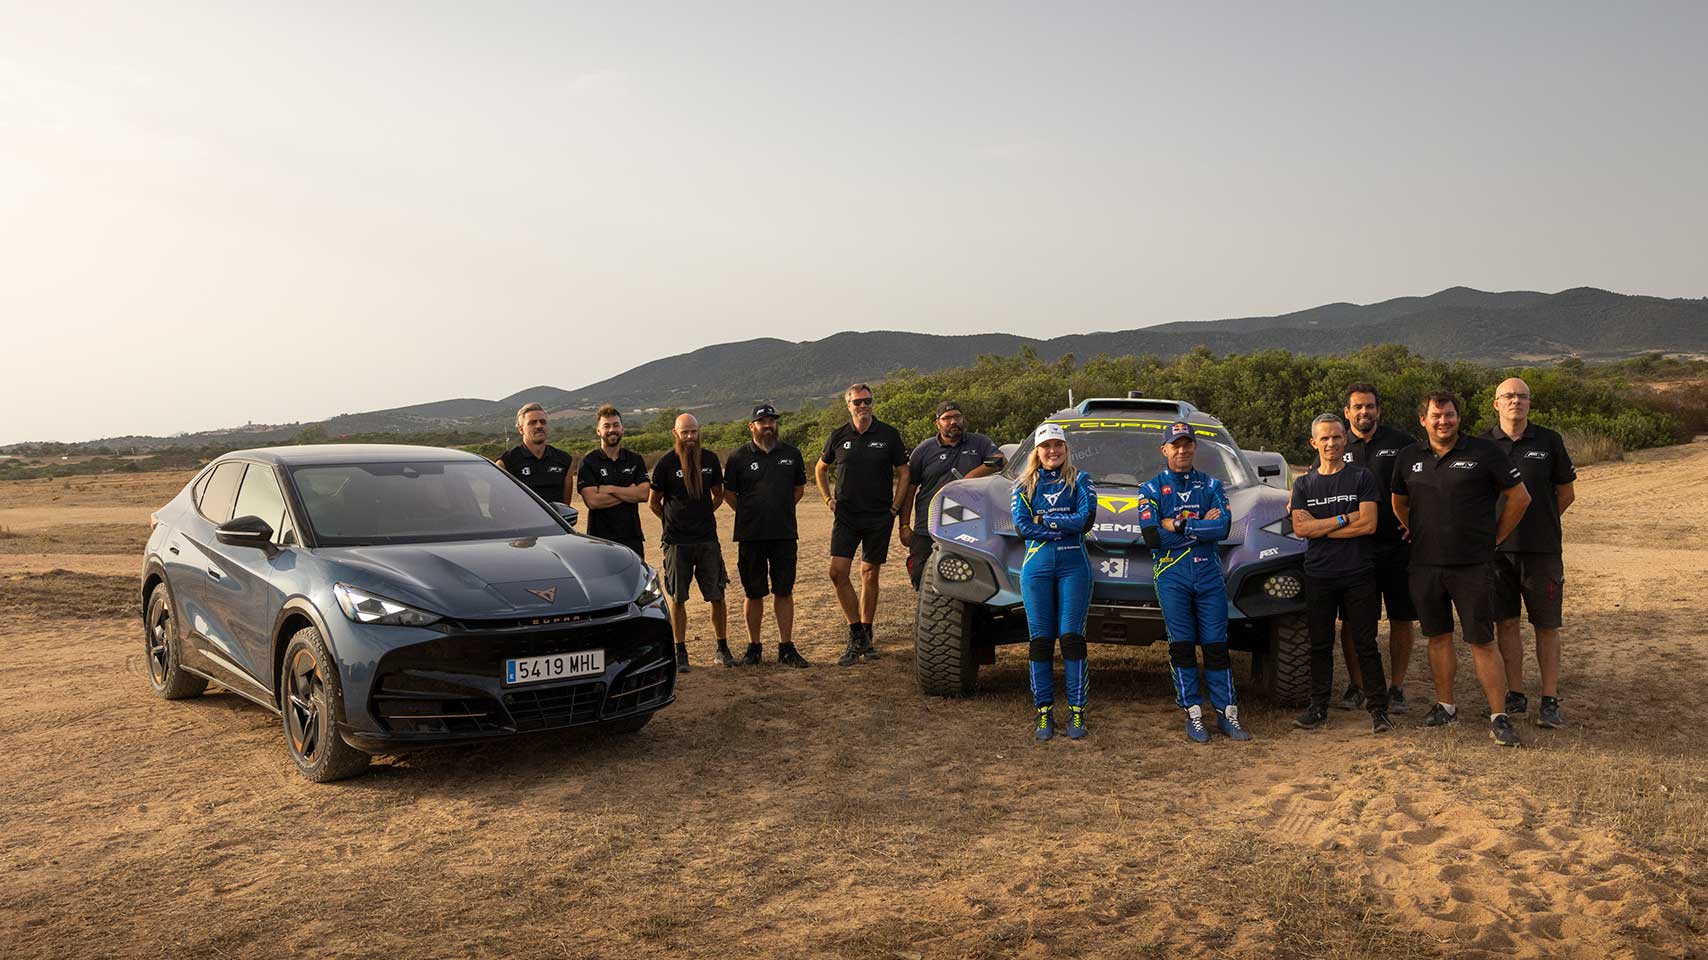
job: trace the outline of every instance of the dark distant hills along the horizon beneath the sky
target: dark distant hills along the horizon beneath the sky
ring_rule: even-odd
[[[200,446],[234,436],[289,439],[319,427],[328,436],[507,429],[516,408],[545,403],[553,419],[591,417],[601,403],[625,412],[683,407],[711,419],[740,415],[755,400],[798,407],[834,398],[851,381],[878,381],[902,369],[936,371],[980,354],[1008,355],[1021,347],[1040,357],[1155,354],[1173,357],[1194,347],[1216,354],[1283,348],[1341,354],[1375,343],[1399,343],[1426,357],[1488,364],[1551,362],[1566,357],[1611,360],[1645,352],[1708,354],[1708,299],[1662,299],[1575,287],[1558,294],[1484,292],[1448,287],[1428,297],[1375,304],[1324,304],[1279,316],[1163,323],[1138,330],[1074,333],[1035,340],[1008,333],[945,337],[874,330],[837,333],[794,343],[760,338],[717,343],[649,360],[577,389],[531,386],[500,400],[439,400],[345,413],[318,424],[236,427],[181,437],[125,437],[125,444]],[[91,441],[102,444],[113,441]]]

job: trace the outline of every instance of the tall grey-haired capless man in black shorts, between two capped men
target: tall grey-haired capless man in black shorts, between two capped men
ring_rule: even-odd
[[[871,388],[856,383],[847,388],[849,422],[837,427],[825,441],[825,453],[813,468],[818,494],[835,512],[830,528],[830,582],[837,588],[837,603],[849,620],[849,646],[837,659],[852,666],[861,656],[878,659],[878,646],[871,635],[878,615],[878,574],[890,553],[890,533],[902,512],[900,494],[907,487],[907,449],[902,434],[873,415]],[[837,489],[830,492],[830,465],[837,468]],[[854,548],[859,548],[859,596],[849,571],[854,565]]]

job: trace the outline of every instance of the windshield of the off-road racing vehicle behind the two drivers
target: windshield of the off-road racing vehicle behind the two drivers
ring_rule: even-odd
[[[1068,434],[1068,454],[1073,465],[1091,475],[1098,487],[1138,487],[1161,473],[1168,465],[1163,461],[1163,427],[1149,420],[1056,420]],[[1220,427],[1196,425],[1197,458],[1194,466],[1216,477],[1230,490],[1252,482],[1233,439]],[[1009,478],[1020,477],[1027,466],[1032,442],[1020,446],[1008,461],[1004,471]]]

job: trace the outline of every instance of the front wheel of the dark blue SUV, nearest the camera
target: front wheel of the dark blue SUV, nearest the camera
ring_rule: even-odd
[[[292,634],[278,666],[278,712],[290,760],[316,784],[354,777],[371,760],[338,736],[342,697],[338,668],[319,630],[304,627]]]

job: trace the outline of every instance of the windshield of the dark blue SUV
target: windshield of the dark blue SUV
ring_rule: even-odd
[[[540,500],[492,463],[328,463],[294,466],[290,478],[326,547],[564,533]]]

